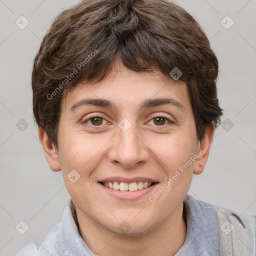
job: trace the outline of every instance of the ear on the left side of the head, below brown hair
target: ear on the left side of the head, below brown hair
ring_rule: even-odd
[[[38,127],[38,136],[49,167],[53,171],[61,170],[57,149],[51,141],[50,137],[47,135],[46,131],[40,126]]]

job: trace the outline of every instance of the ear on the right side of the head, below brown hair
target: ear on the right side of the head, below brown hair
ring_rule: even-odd
[[[214,122],[212,122],[210,125],[206,127],[205,134],[202,140],[198,141],[197,151],[200,151],[200,154],[197,154],[199,156],[197,157],[194,163],[194,174],[200,174],[204,169],[204,166],[209,156],[210,145],[214,134],[214,128]]]

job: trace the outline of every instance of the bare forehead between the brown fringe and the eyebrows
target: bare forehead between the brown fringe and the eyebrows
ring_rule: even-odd
[[[115,110],[141,109],[164,104],[164,101],[186,112],[190,106],[186,83],[168,78],[157,70],[135,72],[119,64],[100,82],[85,81],[66,89],[61,109],[72,111],[86,103]]]

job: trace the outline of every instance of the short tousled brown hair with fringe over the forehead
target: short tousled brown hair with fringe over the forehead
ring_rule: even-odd
[[[198,140],[207,125],[220,123],[218,61],[190,14],[167,0],[83,0],[55,18],[34,59],[34,118],[56,146],[63,90],[102,80],[116,60],[169,78],[173,68],[181,70]]]

